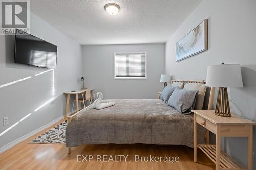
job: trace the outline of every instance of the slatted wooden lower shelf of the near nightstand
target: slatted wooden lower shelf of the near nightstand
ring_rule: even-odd
[[[205,155],[207,155],[211,161],[215,163],[215,145],[208,144],[198,144],[197,148],[203,151]],[[225,152],[221,151],[221,168],[222,169],[246,169],[243,168],[240,164],[234,161],[230,156],[228,156]]]

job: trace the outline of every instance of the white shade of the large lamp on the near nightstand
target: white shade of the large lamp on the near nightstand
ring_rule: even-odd
[[[207,69],[208,87],[243,87],[239,64],[211,65]]]

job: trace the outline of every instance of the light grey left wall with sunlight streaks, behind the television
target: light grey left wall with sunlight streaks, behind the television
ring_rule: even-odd
[[[39,17],[30,15],[31,34],[58,46],[57,68],[35,76],[47,69],[14,64],[14,37],[0,36],[0,85],[28,76],[30,79],[0,88],[0,133],[32,113],[22,122],[0,136],[3,145],[41,127],[65,113],[64,91],[81,87],[81,46]],[[54,91],[53,91],[54,87]],[[34,112],[36,108],[54,100]],[[3,117],[9,116],[9,125],[3,126]]]

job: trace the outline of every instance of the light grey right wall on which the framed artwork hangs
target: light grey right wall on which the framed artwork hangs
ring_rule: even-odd
[[[167,41],[166,72],[172,74],[175,79],[205,80],[208,65],[221,62],[241,64],[245,87],[229,89],[229,97],[241,109],[245,118],[256,121],[255,17],[255,0],[203,1]],[[176,62],[175,43],[204,19],[208,19],[209,50]],[[233,114],[242,116],[231,102],[230,105]],[[253,134],[253,151],[256,154],[255,126]],[[223,147],[238,162],[246,165],[247,139],[225,138]]]

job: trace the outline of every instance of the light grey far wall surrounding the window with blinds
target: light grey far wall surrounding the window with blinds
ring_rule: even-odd
[[[147,52],[147,79],[114,79],[115,52]],[[156,99],[163,88],[164,53],[164,44],[83,46],[85,86],[102,92],[104,99]]]

